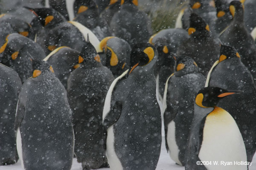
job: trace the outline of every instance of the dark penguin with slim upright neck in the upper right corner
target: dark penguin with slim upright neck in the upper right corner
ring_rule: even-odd
[[[236,48],[241,55],[241,60],[256,80],[256,45],[253,38],[244,26],[243,4],[237,0],[230,3],[230,13],[233,21],[230,26],[220,35],[224,45]]]

